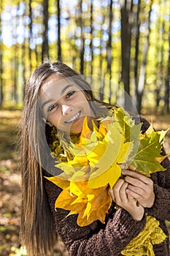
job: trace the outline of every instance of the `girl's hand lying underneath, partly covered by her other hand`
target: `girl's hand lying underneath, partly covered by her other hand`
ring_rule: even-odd
[[[109,190],[109,193],[117,203],[117,206],[124,208],[136,221],[140,221],[144,215],[144,208],[141,205],[137,205],[136,200],[131,195],[126,193],[128,183],[124,179],[120,178],[113,189]]]

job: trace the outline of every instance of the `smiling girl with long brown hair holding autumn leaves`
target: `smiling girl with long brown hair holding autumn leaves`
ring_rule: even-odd
[[[55,211],[61,188],[44,176],[56,176],[62,170],[54,167],[50,146],[60,138],[55,145],[58,157],[69,154],[70,140],[80,136],[85,116],[90,127],[92,119],[109,116],[110,109],[93,97],[90,85],[66,64],[42,64],[28,80],[20,143],[23,187],[20,237],[28,255],[51,255],[58,235],[69,255],[122,255],[125,246],[143,230],[147,214],[158,219],[166,235],[161,243],[154,244],[154,254],[169,255],[165,224],[165,219],[170,220],[167,158],[162,162],[166,171],[152,173],[152,178],[134,172],[133,167],[123,170],[125,178],[120,178],[110,191],[113,202],[105,224],[95,221],[80,227],[77,214],[67,217],[66,210]],[[143,118],[140,121],[144,132],[149,124]],[[120,206],[117,210],[115,204]]]

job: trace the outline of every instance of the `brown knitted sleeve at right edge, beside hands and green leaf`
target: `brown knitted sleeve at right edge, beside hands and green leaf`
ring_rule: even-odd
[[[142,131],[149,127],[149,123],[141,118],[143,122]],[[163,149],[163,155],[165,155],[165,151]],[[163,167],[166,169],[165,171],[152,173],[151,178],[154,182],[154,192],[155,192],[155,202],[152,208],[146,208],[145,211],[147,214],[152,215],[158,219],[167,219],[170,220],[170,161],[167,157],[161,163]]]

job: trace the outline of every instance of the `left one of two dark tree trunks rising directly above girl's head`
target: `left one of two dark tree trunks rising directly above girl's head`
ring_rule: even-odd
[[[43,0],[43,31],[42,31],[42,62],[47,60],[48,54],[48,0]]]

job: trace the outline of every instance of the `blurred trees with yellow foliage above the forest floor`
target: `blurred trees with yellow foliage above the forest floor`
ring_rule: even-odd
[[[101,99],[127,105],[129,94],[139,112],[169,113],[169,23],[169,0],[1,0],[0,105],[22,105],[31,72],[50,59],[112,81],[96,85]]]

